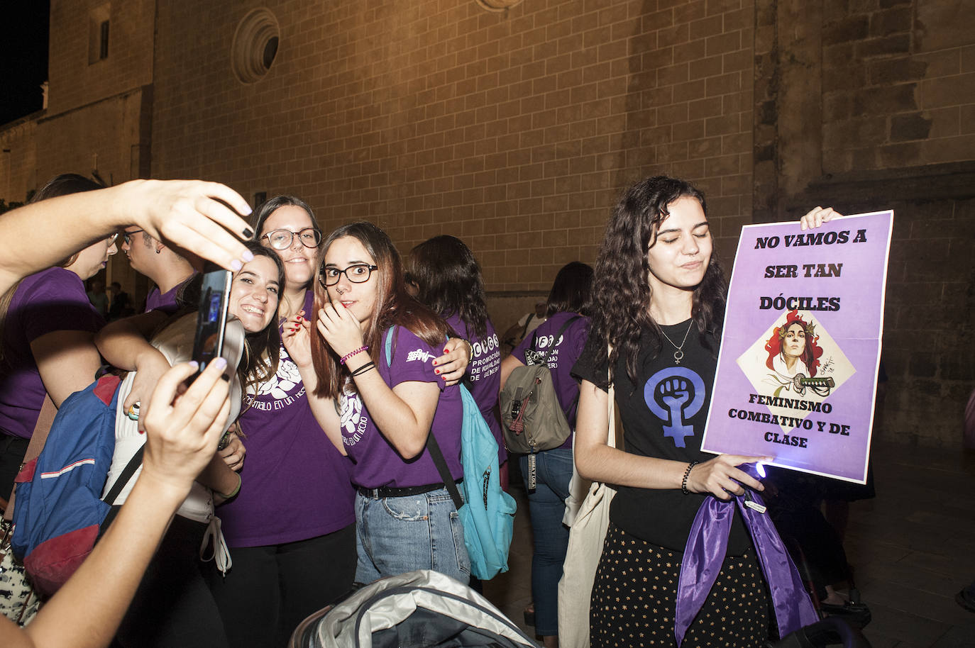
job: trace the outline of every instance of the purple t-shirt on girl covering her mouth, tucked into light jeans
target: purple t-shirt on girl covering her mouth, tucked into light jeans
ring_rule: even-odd
[[[464,474],[460,466],[460,425],[463,420],[460,388],[456,385],[445,388],[443,379],[434,373],[434,366],[430,363],[443,354],[443,344],[430,346],[403,326],[397,326],[395,331],[392,364],[386,363],[386,337],[383,333],[383,348],[379,350],[377,362],[379,375],[391,388],[410,381],[435,383],[441,388],[430,430],[444,453],[450,476],[459,479]],[[366,488],[380,488],[425,486],[443,481],[430,453],[425,449],[415,459],[409,462],[403,460],[379,433],[358,394],[339,397],[339,411],[345,451],[356,462],[352,468],[353,483]]]

